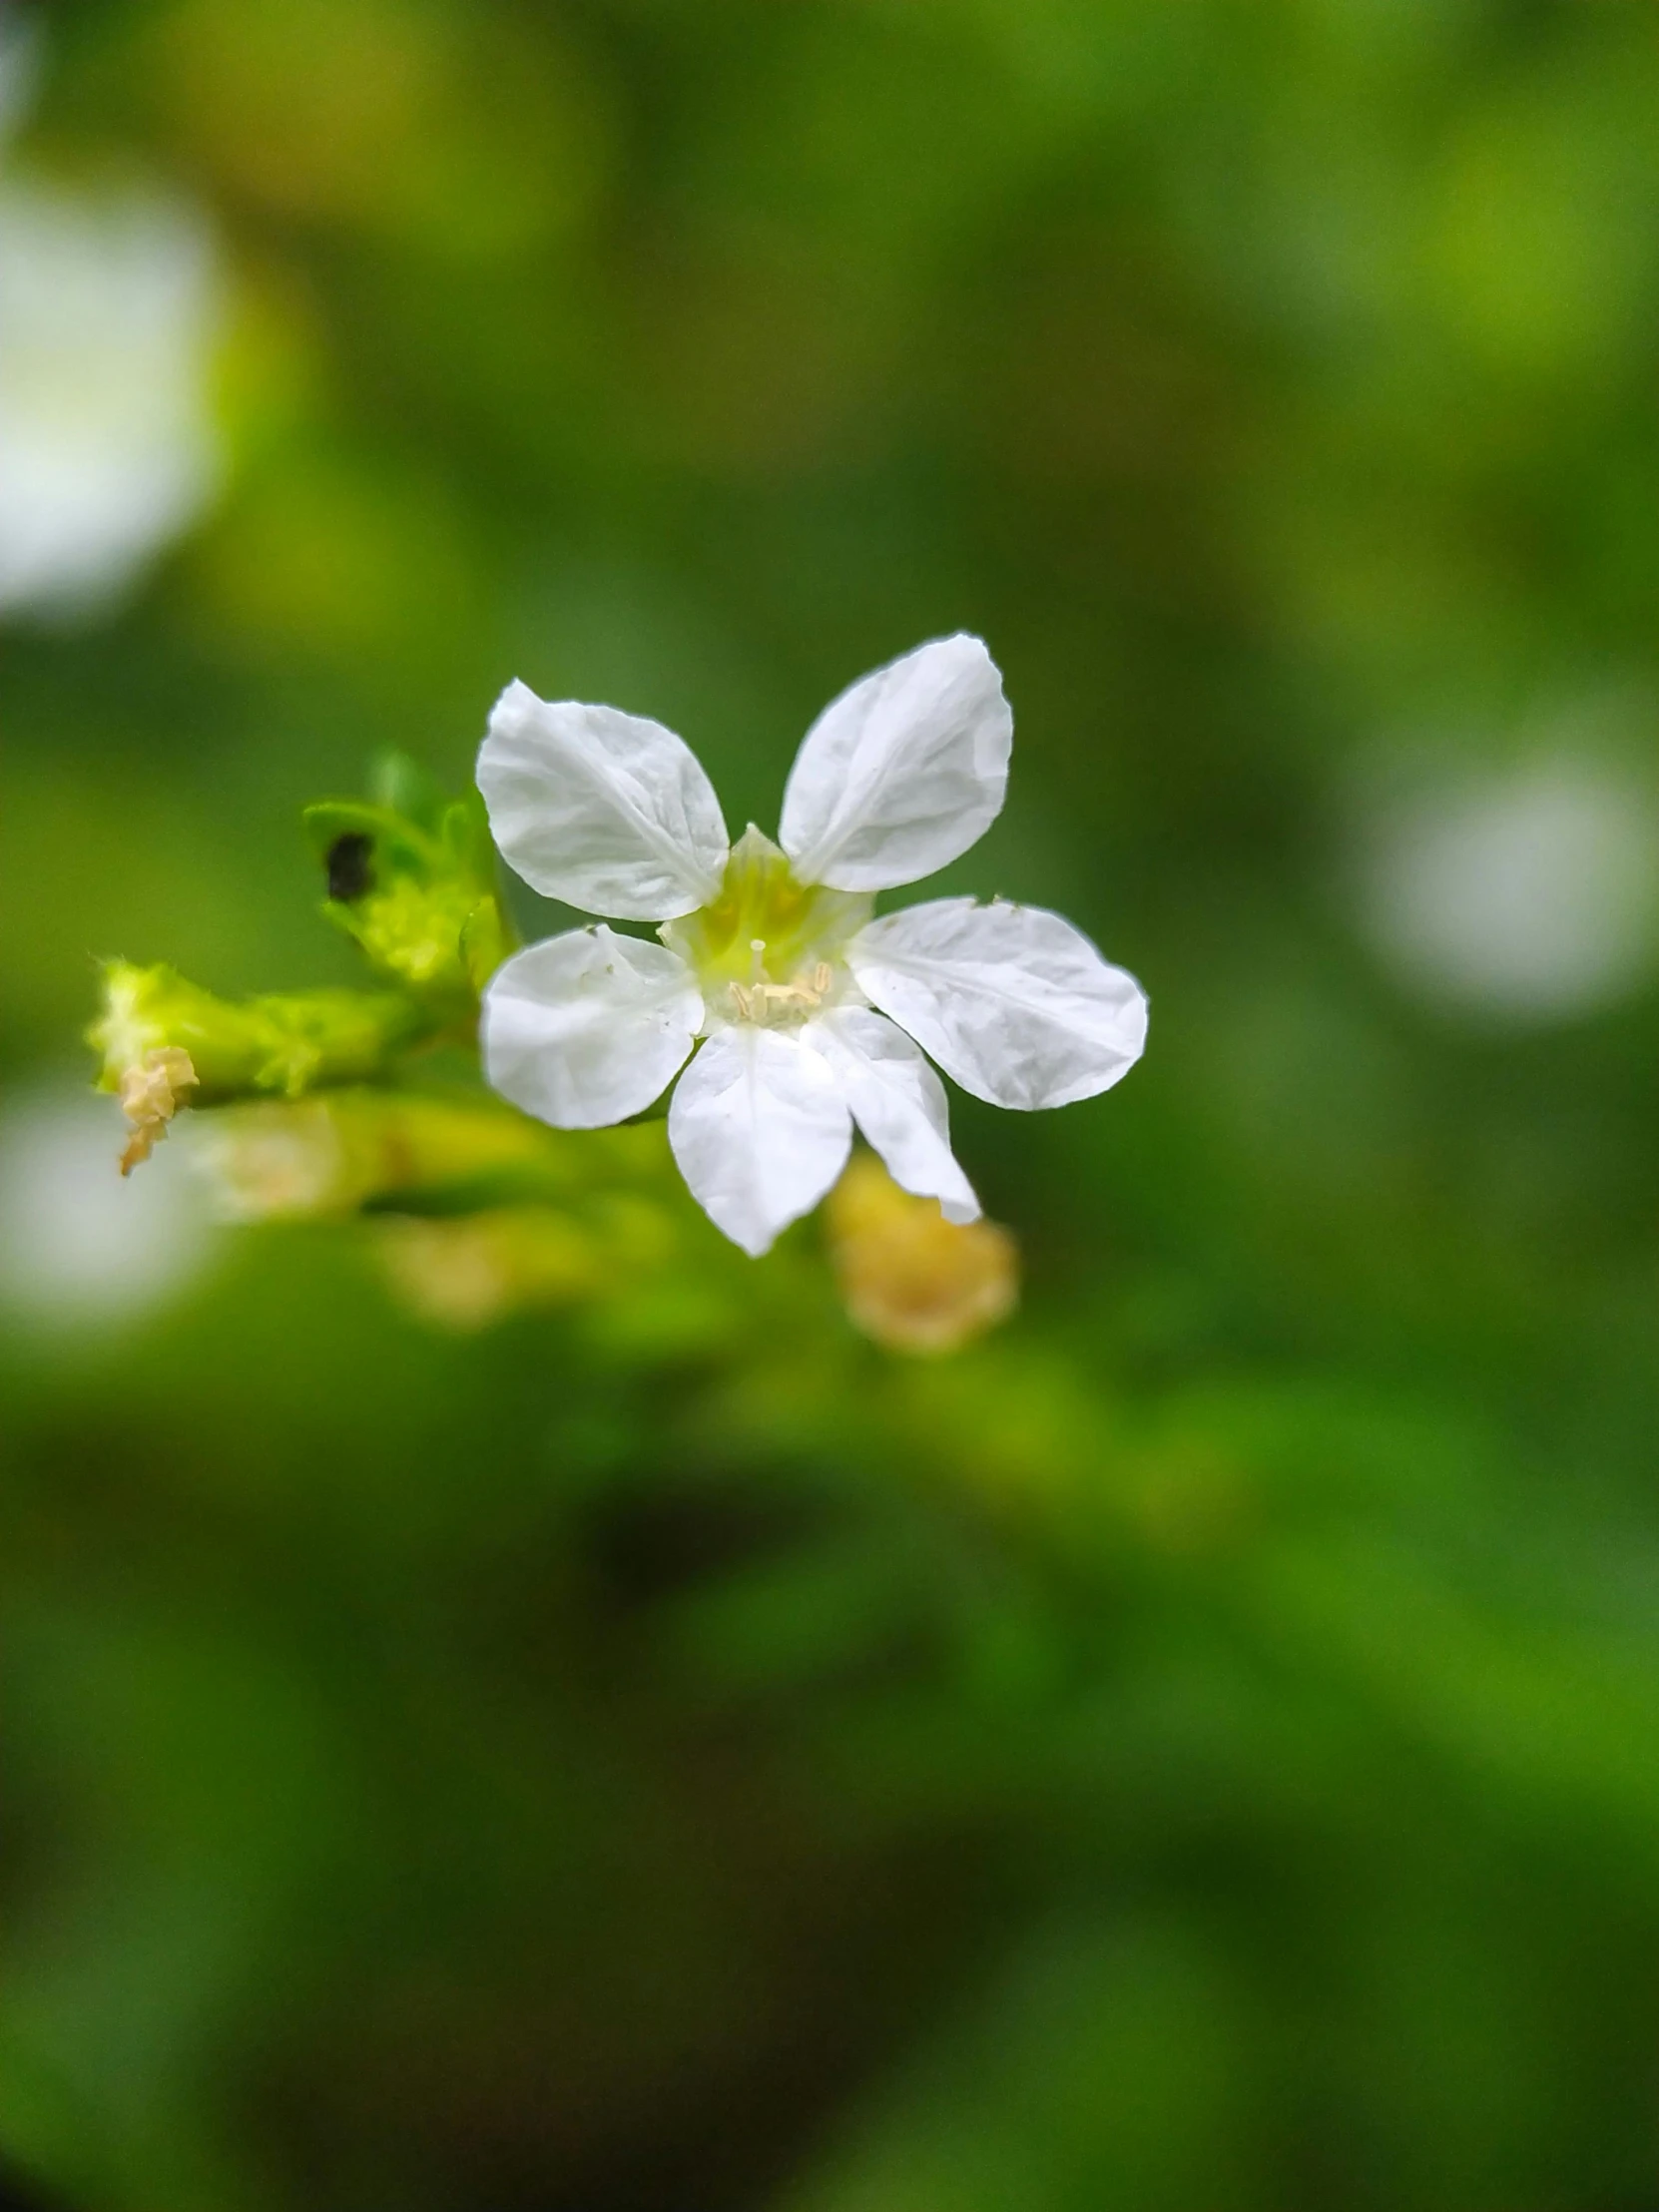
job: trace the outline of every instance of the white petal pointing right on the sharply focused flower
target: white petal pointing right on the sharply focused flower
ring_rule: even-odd
[[[933,898],[867,922],[847,964],[883,1013],[993,1106],[1071,1106],[1146,1046],[1146,993],[1042,907]]]

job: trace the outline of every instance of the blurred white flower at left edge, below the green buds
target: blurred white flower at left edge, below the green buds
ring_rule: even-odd
[[[181,1157],[115,1172],[113,1099],[38,1091],[0,1113],[0,1312],[53,1329],[153,1312],[201,1272],[208,1206]]]

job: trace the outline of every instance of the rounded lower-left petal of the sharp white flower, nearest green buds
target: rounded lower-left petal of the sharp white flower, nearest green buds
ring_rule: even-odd
[[[679,953],[644,938],[568,929],[526,945],[484,991],[484,1073],[553,1128],[606,1128],[668,1088],[703,1022]]]

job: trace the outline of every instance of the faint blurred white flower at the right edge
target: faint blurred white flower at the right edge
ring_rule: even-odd
[[[1433,998],[1524,1022],[1590,1013],[1659,953],[1652,794],[1573,752],[1420,783],[1374,818],[1363,920]]]

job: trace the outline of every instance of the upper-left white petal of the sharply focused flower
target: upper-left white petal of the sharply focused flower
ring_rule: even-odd
[[[690,745],[613,706],[549,706],[509,684],[478,750],[478,790],[507,863],[546,898],[630,922],[708,905],[726,818]]]

